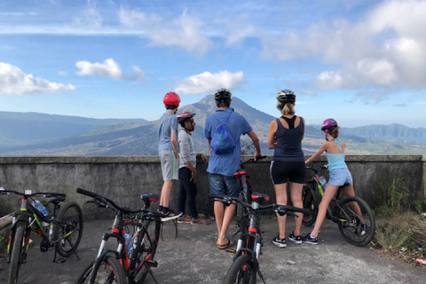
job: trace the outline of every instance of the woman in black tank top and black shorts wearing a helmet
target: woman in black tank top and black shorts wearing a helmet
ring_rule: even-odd
[[[290,198],[293,206],[303,208],[302,190],[304,187],[304,151],[302,140],[304,138],[304,118],[295,115],[296,96],[293,91],[283,90],[277,95],[277,108],[282,116],[271,122],[268,133],[268,146],[273,151],[271,162],[271,177],[275,188],[277,203],[288,204],[287,184],[290,188]],[[302,243],[300,229],[303,215],[296,213],[296,228],[288,235],[290,241]],[[286,221],[287,216],[279,216],[278,227],[280,233],[272,243],[280,248],[287,247]]]

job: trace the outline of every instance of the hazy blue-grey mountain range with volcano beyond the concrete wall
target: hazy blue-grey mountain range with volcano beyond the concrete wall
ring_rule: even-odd
[[[269,125],[275,117],[248,106],[233,97],[232,107],[244,115],[261,140],[262,152],[272,154],[266,139]],[[197,123],[193,141],[198,152],[208,153],[204,138],[206,117],[216,112],[212,95],[193,105],[182,106],[179,111],[195,113]],[[157,155],[158,121],[143,119],[91,119],[76,116],[0,112],[1,155]],[[303,141],[305,154],[313,154],[324,142],[318,125],[306,125]],[[393,130],[392,130],[393,129]],[[348,154],[423,154],[422,130],[402,125],[371,125],[343,128],[342,138]],[[398,137],[419,138],[419,142],[398,141]],[[242,138],[242,149],[252,151],[251,140]],[[425,141],[426,142],[426,141]]]

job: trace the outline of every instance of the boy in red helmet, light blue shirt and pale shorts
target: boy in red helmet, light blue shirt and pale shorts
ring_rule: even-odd
[[[168,92],[162,99],[166,107],[166,113],[162,114],[158,124],[157,138],[160,161],[162,163],[162,195],[160,197],[159,211],[167,217],[177,214],[169,209],[170,193],[173,181],[178,178],[179,154],[177,150],[177,107],[180,98],[176,92]]]

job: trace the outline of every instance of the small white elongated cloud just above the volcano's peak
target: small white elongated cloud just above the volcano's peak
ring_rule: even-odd
[[[220,71],[215,74],[206,71],[178,82],[175,91],[178,94],[198,95],[217,91],[220,88],[233,90],[241,86],[243,82],[244,74],[241,71],[236,73]]]

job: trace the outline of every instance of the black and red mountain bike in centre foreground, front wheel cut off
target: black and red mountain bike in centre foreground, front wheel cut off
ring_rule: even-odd
[[[264,201],[269,201],[269,196],[265,193],[253,193],[250,197],[252,203],[241,201],[239,198],[209,194],[214,201],[222,202],[225,206],[237,203],[248,214],[248,230],[241,232],[236,249],[227,249],[233,252],[233,264],[229,268],[225,277],[225,284],[244,283],[256,284],[256,275],[264,281],[264,276],[259,269],[259,257],[261,255],[262,232],[260,230],[260,217],[262,212],[274,211],[280,216],[294,215],[295,212],[307,213],[307,209],[300,209],[289,205],[268,204],[261,205]],[[296,216],[297,217],[297,216]]]

